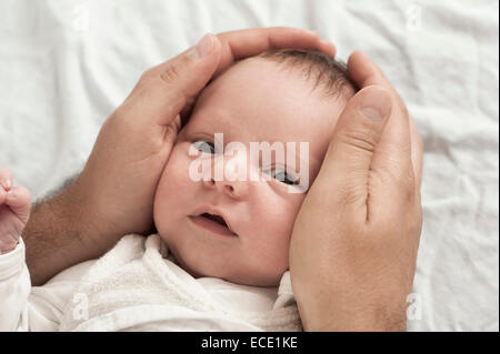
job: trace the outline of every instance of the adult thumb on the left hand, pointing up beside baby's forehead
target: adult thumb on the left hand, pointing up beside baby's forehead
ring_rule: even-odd
[[[217,36],[207,33],[193,48],[153,68],[138,97],[139,117],[161,125],[172,122],[213,75],[220,49]]]

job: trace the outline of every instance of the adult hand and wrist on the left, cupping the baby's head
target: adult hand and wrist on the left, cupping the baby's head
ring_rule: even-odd
[[[154,190],[181,115],[207,82],[236,60],[279,48],[334,55],[333,44],[313,32],[252,29],[206,34],[194,48],[144,72],[104,122],[82,173],[32,210],[23,237],[33,284],[101,255],[123,234],[149,232]]]

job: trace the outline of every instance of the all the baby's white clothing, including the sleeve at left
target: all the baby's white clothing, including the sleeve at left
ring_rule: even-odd
[[[123,236],[40,287],[23,260],[22,241],[0,255],[0,331],[302,330],[289,272],[279,287],[194,279],[160,253],[158,235]]]

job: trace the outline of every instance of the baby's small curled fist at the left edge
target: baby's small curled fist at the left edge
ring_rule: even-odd
[[[31,195],[23,186],[13,186],[12,173],[0,166],[0,254],[16,249],[28,222]]]

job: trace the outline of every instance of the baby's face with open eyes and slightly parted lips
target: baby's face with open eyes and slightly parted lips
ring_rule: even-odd
[[[303,73],[266,59],[242,61],[212,82],[179,132],[154,199],[157,230],[180,265],[197,277],[258,286],[279,284],[289,266],[290,236],[306,194],[290,193],[293,178],[283,173],[286,161],[273,155],[268,165],[254,164],[250,142],[278,142],[284,148],[287,142],[296,142],[296,151],[286,149],[284,156],[291,153],[297,159],[299,176],[303,171],[298,162],[300,142],[308,142],[304,162],[309,162],[310,185],[342,109],[338,99],[324,98],[320,89],[312,91]],[[216,146],[212,154],[209,146],[216,133],[223,134],[224,145],[242,143],[247,153],[224,155],[223,146]],[[201,151],[190,155],[190,150]],[[197,159],[211,166],[211,171],[203,170],[208,181],[190,175]],[[288,180],[217,179],[214,171],[220,164]],[[202,213],[222,215],[232,233],[213,231],[214,223],[199,216]]]

